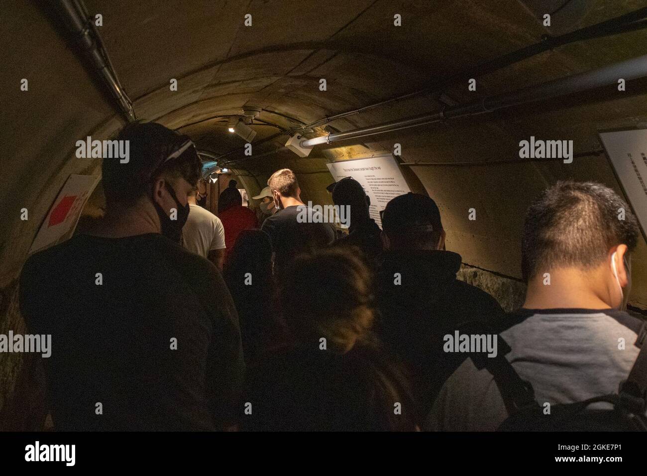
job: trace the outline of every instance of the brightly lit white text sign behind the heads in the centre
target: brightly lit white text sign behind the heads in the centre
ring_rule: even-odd
[[[371,218],[380,228],[382,228],[380,211],[384,210],[392,198],[411,191],[400,172],[400,167],[390,154],[326,165],[334,181],[353,177],[364,187],[366,195],[371,199]]]

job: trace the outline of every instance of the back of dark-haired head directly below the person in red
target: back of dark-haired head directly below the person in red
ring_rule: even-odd
[[[246,285],[250,288],[263,285],[272,277],[272,243],[264,231],[243,230],[236,238],[225,271],[230,287],[243,285],[247,273],[252,278],[252,286]]]

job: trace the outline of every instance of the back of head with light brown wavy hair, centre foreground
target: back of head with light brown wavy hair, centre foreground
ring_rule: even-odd
[[[304,343],[327,341],[338,354],[364,339],[373,325],[371,277],[346,249],[300,255],[281,282],[281,305],[289,330]]]

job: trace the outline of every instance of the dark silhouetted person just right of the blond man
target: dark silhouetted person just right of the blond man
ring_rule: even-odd
[[[349,233],[334,244],[358,247],[367,263],[376,266],[378,256],[382,253],[382,231],[371,218],[371,199],[366,195],[362,184],[353,177],[344,177],[334,185],[333,203],[339,207],[348,207],[350,211]]]

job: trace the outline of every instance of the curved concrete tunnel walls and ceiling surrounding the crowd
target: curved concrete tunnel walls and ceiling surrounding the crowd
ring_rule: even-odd
[[[469,69],[550,32],[517,0],[332,0],[248,2],[142,0],[85,2],[100,13],[100,34],[115,69],[134,101],[138,118],[155,120],[190,135],[216,155],[241,148],[226,133],[226,117],[243,106],[263,108],[254,127],[254,155],[233,153],[223,160],[256,194],[274,170],[296,170],[303,198],[331,203],[325,164],[402,144],[402,166],[410,187],[436,199],[447,229],[447,247],[461,253],[459,276],[491,292],[507,308],[523,299],[520,227],[530,201],[557,179],[593,179],[620,190],[604,153],[560,161],[484,166],[452,165],[518,157],[518,142],[573,139],[575,152],[601,149],[597,131],[644,127],[647,82],[583,93],[498,113],[366,137],[363,144],[317,147],[299,158],[281,149],[288,130],[421,89],[456,71]],[[60,20],[45,1],[8,1],[0,35],[3,128],[0,143],[0,333],[23,332],[17,309],[17,278],[28,249],[52,201],[69,174],[97,174],[100,161],[77,159],[75,142],[91,135],[109,139],[124,124],[102,84],[71,47]],[[619,16],[643,6],[589,1],[577,16],[555,16],[564,31]],[[253,16],[252,27],[243,17]],[[393,14],[402,27],[393,27]],[[561,23],[560,23],[561,22]],[[443,89],[455,102],[512,91],[568,74],[588,71],[643,54],[644,32],[574,43]],[[22,78],[28,91],[20,90]],[[170,91],[170,78],[178,90]],[[320,78],[327,91],[318,89]],[[443,107],[437,93],[419,95],[331,122],[352,130]],[[306,131],[307,137],[325,133]],[[272,136],[277,137],[272,138]],[[235,162],[233,162],[235,160]],[[100,188],[98,188],[100,195]],[[96,211],[100,196],[93,198]],[[469,208],[477,220],[467,220]],[[29,219],[19,219],[28,209]],[[486,271],[484,271],[486,270]],[[494,273],[490,273],[490,271]],[[647,245],[641,238],[633,257],[630,304],[647,309]],[[509,278],[506,278],[509,277]],[[0,354],[0,428],[34,425],[30,408],[38,389],[28,357]]]

